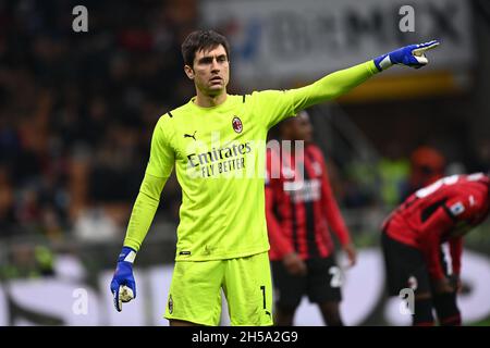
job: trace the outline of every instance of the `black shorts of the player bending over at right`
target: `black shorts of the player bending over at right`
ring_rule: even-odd
[[[429,271],[420,250],[391,238],[384,232],[381,237],[381,247],[390,296],[399,296],[403,288],[412,288],[415,294],[431,290]],[[442,249],[440,257],[446,272]]]

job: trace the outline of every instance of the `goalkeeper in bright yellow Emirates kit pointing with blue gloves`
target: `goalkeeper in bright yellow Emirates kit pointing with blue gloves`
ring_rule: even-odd
[[[175,268],[166,309],[170,325],[218,325],[221,289],[232,325],[272,325],[272,286],[265,215],[265,144],[281,120],[341,96],[393,64],[420,67],[412,45],[290,90],[226,94],[230,49],[212,30],[182,45],[196,96],[158,121],[148,166],[111,282],[114,306],[136,297],[133,262],[175,166],[182,186]]]

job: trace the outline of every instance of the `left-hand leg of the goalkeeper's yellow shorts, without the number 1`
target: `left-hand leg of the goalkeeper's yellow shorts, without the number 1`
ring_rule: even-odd
[[[223,275],[223,261],[176,261],[164,315],[170,325],[218,325]]]

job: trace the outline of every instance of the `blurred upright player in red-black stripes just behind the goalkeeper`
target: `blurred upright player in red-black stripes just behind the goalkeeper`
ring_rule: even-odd
[[[333,229],[351,265],[356,253],[330,187],[321,150],[311,142],[305,111],[280,124],[282,140],[305,141],[304,151],[268,151],[267,226],[275,289],[275,324],[292,325],[304,295],[318,303],[326,324],[343,325],[342,274],[334,260]],[[298,156],[299,154],[299,156]],[[280,165],[273,175],[273,165]],[[302,173],[303,172],[303,173]],[[278,177],[274,177],[278,176]]]

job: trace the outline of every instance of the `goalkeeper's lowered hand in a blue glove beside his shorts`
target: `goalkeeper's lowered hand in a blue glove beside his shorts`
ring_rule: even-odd
[[[119,254],[118,266],[111,282],[112,297],[118,312],[122,310],[122,302],[136,298],[136,283],[133,276],[135,257],[136,251],[128,247],[123,247]]]

